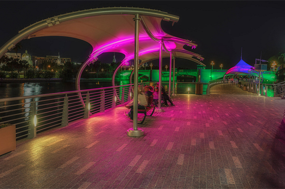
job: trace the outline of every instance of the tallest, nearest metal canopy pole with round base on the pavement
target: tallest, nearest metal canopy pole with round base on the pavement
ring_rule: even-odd
[[[140,137],[143,135],[143,130],[138,128],[138,79],[139,79],[139,31],[140,31],[140,15],[136,14],[135,18],[135,57],[134,57],[134,128],[127,130],[127,135],[130,137]]]

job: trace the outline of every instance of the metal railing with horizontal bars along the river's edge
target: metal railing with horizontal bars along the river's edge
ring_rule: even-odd
[[[176,94],[195,94],[197,83],[175,83]],[[208,84],[203,85],[207,94]],[[139,83],[140,90],[156,82]],[[163,82],[166,91],[169,82]],[[172,84],[171,84],[172,85]],[[172,87],[172,86],[171,86]],[[172,89],[172,88],[171,88]],[[0,123],[16,125],[16,139],[34,138],[40,132],[89,118],[133,98],[133,84],[53,94],[0,99]]]

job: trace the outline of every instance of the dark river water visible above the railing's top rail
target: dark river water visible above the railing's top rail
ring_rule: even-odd
[[[115,85],[126,85],[129,81],[116,82]],[[81,90],[111,87],[111,81],[81,82]],[[75,91],[75,82],[35,82],[35,83],[0,83],[0,99],[38,94]]]

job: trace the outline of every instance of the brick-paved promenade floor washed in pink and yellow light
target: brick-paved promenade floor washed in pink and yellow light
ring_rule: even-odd
[[[18,141],[0,156],[0,188],[285,188],[285,99],[222,84],[173,102],[140,138],[121,106]]]

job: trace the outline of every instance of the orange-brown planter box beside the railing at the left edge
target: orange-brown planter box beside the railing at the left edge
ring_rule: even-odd
[[[16,125],[0,128],[0,155],[16,149]]]

